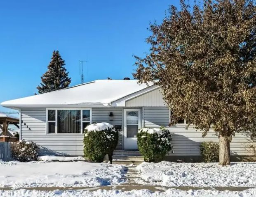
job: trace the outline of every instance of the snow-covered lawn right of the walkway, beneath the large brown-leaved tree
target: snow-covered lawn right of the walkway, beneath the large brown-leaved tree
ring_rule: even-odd
[[[141,163],[139,183],[161,186],[256,187],[256,163],[239,162],[230,166],[218,163]]]

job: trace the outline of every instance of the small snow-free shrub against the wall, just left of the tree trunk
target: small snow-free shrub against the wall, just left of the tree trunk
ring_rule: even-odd
[[[204,162],[218,162],[218,143],[211,141],[202,142],[199,147]]]

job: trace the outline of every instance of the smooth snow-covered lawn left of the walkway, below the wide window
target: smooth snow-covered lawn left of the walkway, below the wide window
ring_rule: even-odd
[[[0,187],[87,187],[123,181],[124,166],[103,163],[0,160]]]

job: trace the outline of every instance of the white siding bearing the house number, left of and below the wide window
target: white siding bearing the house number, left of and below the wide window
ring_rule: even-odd
[[[21,138],[38,144],[40,155],[83,155],[83,134],[46,134],[45,108],[21,109],[21,121]]]

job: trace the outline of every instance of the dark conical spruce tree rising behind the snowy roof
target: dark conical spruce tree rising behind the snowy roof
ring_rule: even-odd
[[[68,72],[64,66],[65,61],[61,58],[59,51],[54,50],[48,70],[41,77],[40,85],[37,86],[39,94],[68,87],[71,78],[68,77]]]

